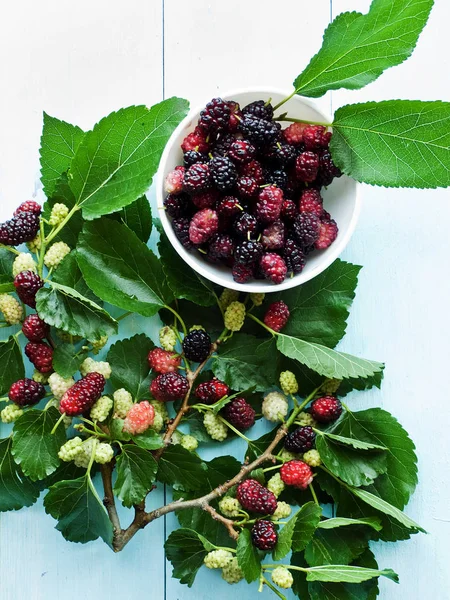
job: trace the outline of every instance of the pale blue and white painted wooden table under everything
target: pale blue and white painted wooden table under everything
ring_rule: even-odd
[[[324,27],[369,0],[23,0],[0,21],[0,219],[31,196],[38,174],[42,111],[90,128],[121,106],[179,95],[193,104],[220,90],[288,88],[320,45]],[[413,57],[359,92],[320,100],[332,111],[368,99],[450,99],[450,5],[437,0]],[[238,32],[236,32],[236,28]],[[417,444],[420,484],[407,512],[429,535],[373,544],[379,564],[400,575],[381,598],[450,598],[448,408],[450,193],[365,187],[358,229],[343,258],[364,265],[343,350],[387,363],[382,391],[351,406],[390,410]],[[129,320],[127,333],[146,331]],[[239,452],[238,443],[234,449]],[[227,449],[228,451],[228,449]],[[150,505],[164,501],[151,495]],[[124,512],[123,519],[127,516]],[[162,544],[175,517],[156,521],[114,555],[102,542],[65,542],[41,502],[1,515],[2,600],[217,600],[238,593],[202,569],[193,589],[171,579]],[[269,598],[271,593],[260,595]]]

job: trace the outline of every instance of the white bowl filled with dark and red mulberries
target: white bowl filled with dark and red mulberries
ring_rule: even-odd
[[[165,233],[188,265],[221,286],[300,285],[341,254],[355,229],[359,184],[334,165],[332,131],[318,124],[331,119],[300,96],[277,109],[288,95],[213,98],[180,123],[161,158]]]

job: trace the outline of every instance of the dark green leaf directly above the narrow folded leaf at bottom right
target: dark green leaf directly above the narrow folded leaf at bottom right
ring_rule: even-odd
[[[367,549],[369,538],[365,527],[318,529],[305,549],[306,562],[311,567],[348,565]]]

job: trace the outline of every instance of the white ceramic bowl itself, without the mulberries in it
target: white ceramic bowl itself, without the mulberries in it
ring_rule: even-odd
[[[236,100],[241,106],[245,106],[254,100],[268,100],[269,98],[272,98],[272,103],[275,105],[289,94],[290,90],[248,89],[221,94],[221,97],[225,100]],[[177,165],[183,164],[183,152],[180,145],[186,135],[195,128],[200,111],[203,107],[204,105],[191,110],[188,116],[175,129],[161,157],[157,175],[156,198],[158,213],[164,231],[175,250],[189,266],[206,279],[209,279],[220,286],[242,292],[278,292],[301,285],[313,277],[316,277],[316,275],[319,275],[319,273],[331,265],[347,246],[358,220],[360,210],[360,185],[346,176],[335,179],[327,190],[323,190],[325,209],[331,213],[332,218],[335,219],[339,227],[337,239],[326,250],[319,250],[311,253],[307,257],[303,271],[294,277],[288,277],[279,285],[260,280],[250,281],[248,283],[236,283],[231,275],[231,269],[206,262],[198,252],[186,250],[178,241],[172,229],[170,218],[163,209],[163,200],[166,195],[164,192],[164,179]],[[280,108],[280,110],[276,111],[276,114],[284,112],[288,112],[290,117],[304,119],[306,121],[332,122],[331,117],[319,110],[314,102],[301,98],[300,96],[291,98]],[[289,123],[283,123],[282,126],[284,127],[288,124]],[[294,200],[297,199],[294,198]]]

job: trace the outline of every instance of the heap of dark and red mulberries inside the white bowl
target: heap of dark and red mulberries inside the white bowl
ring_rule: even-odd
[[[264,100],[241,109],[214,98],[165,180],[164,207],[181,244],[231,268],[238,283],[279,284],[338,233],[320,193],[341,175],[332,134],[303,123],[282,130],[273,117]]]

